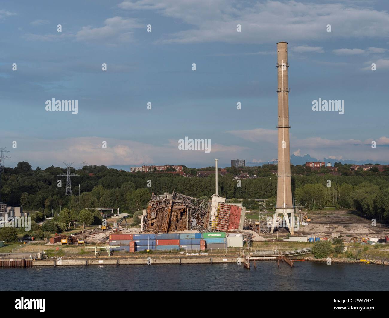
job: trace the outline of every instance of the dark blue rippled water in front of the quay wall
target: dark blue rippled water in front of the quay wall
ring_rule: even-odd
[[[0,268],[0,290],[386,290],[389,267],[295,262]]]

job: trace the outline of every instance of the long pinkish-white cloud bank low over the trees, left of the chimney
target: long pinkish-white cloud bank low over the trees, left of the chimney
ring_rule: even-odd
[[[61,165],[65,162],[81,162],[90,165],[142,165],[186,162],[214,162],[215,156],[228,162],[230,157],[239,157],[247,147],[212,143],[210,153],[204,150],[179,150],[178,139],[169,139],[166,144],[107,139],[101,137],[76,137],[67,139],[37,139],[20,137],[21,142],[30,145],[18,151],[13,161],[28,161],[34,167]],[[107,148],[102,148],[107,141]],[[38,150],[37,150],[38,149]],[[9,162],[6,162],[9,165]]]

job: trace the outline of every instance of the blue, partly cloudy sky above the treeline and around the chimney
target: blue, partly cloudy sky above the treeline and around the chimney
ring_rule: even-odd
[[[0,147],[12,157],[5,165],[273,160],[279,41],[289,43],[291,153],[386,162],[388,7],[386,1],[2,1]],[[52,98],[78,100],[78,114],[47,112]],[[344,100],[345,113],[312,111],[319,98]],[[210,139],[211,152],[178,150],[186,136]]]

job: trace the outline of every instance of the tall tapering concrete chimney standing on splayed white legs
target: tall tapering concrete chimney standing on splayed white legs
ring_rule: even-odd
[[[277,94],[278,94],[278,171],[277,171],[277,205],[272,229],[279,213],[284,215],[286,226],[294,234],[294,210],[291,187],[291,163],[289,146],[289,88],[288,88],[288,43],[277,43]],[[289,215],[291,222],[289,222]]]

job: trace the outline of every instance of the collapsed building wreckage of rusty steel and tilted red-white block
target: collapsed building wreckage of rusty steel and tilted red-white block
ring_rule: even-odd
[[[212,200],[199,200],[174,191],[153,194],[141,217],[141,229],[154,233],[243,229],[246,209],[240,203],[228,204],[225,200],[215,195]]]

